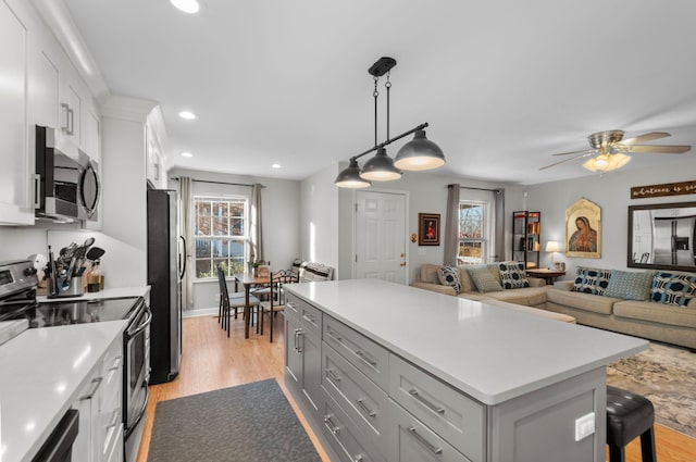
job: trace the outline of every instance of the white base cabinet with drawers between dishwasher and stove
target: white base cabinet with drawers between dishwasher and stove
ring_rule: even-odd
[[[123,453],[123,339],[116,338],[86,378],[72,408],[79,411],[77,462],[108,462]]]

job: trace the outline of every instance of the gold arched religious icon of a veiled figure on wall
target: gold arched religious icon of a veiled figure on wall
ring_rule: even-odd
[[[587,199],[566,209],[566,255],[601,258],[601,209]]]

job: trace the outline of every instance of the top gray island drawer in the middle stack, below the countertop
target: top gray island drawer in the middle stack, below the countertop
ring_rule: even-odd
[[[389,353],[386,349],[331,316],[324,316],[323,340],[380,388],[387,389]]]

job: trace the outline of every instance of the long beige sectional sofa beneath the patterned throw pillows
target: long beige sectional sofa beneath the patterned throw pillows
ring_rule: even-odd
[[[437,276],[439,265],[423,264],[419,277],[411,285],[472,300],[497,301],[493,304],[534,307],[549,312],[572,316],[579,324],[613,330],[650,340],[663,341],[696,350],[696,298],[684,307],[647,300],[627,300],[631,297],[608,297],[598,294],[573,291],[574,280],[561,280],[546,286],[544,279],[529,278],[531,287],[502,291],[480,292],[467,271],[459,267],[462,290],[440,284]],[[497,273],[495,264],[488,265],[492,275]],[[604,270],[607,274],[611,271]],[[613,274],[627,272],[617,272]],[[693,275],[692,273],[679,273]],[[651,277],[651,276],[650,276]],[[651,279],[644,287],[650,292]],[[605,286],[606,287],[606,286]],[[602,289],[604,290],[604,289]]]

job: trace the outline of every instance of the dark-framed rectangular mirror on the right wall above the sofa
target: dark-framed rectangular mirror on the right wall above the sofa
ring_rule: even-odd
[[[629,267],[696,270],[696,202],[629,207]]]

